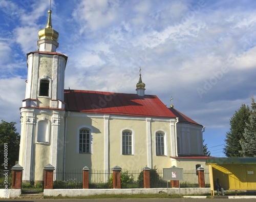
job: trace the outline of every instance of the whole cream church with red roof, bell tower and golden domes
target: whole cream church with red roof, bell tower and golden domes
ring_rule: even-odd
[[[27,54],[20,108],[23,182],[42,181],[48,164],[62,171],[205,165],[204,127],[156,95],[146,95],[141,73],[131,94],[64,89],[68,57],[56,52],[58,32],[48,13],[46,28],[38,32],[38,51]]]

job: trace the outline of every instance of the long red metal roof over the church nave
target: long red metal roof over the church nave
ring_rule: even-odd
[[[176,118],[155,95],[65,89],[64,102],[66,110],[80,113]]]

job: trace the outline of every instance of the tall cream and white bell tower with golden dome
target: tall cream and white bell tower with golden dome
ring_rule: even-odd
[[[27,54],[26,94],[20,108],[19,164],[24,182],[42,181],[49,163],[62,168],[64,142],[64,80],[68,57],[57,53],[58,32],[48,11],[45,29],[38,32],[38,50]]]

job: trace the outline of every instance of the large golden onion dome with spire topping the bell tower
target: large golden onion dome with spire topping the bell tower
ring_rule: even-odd
[[[39,39],[38,40],[51,39],[54,41],[58,41],[59,33],[57,31],[55,31],[54,29],[52,29],[52,18],[51,18],[52,11],[49,10],[48,13],[49,14],[48,14],[46,28],[39,30],[39,32],[38,32]]]

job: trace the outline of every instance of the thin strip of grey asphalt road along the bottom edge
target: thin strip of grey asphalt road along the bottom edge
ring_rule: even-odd
[[[26,201],[34,201],[34,202],[61,202],[61,201],[67,201],[67,202],[100,202],[100,201],[104,201],[104,202],[167,202],[167,201],[171,201],[171,202],[200,202],[200,201],[209,201],[209,202],[231,202],[231,201],[236,201],[236,202],[255,202],[255,198],[252,199],[223,199],[223,198],[218,198],[218,199],[211,199],[211,198],[139,198],[139,199],[135,199],[135,198],[120,198],[120,199],[116,199],[116,198],[106,198],[106,199],[4,199],[4,198],[0,198],[0,201],[15,201],[15,202],[26,202]]]

